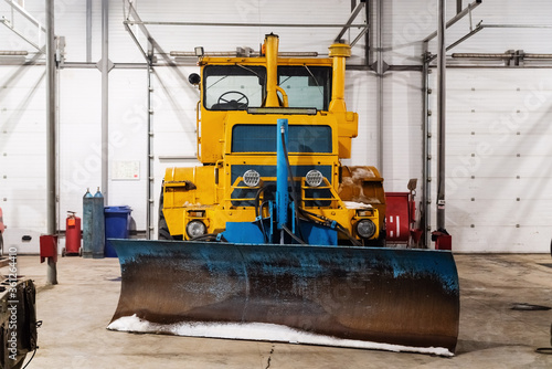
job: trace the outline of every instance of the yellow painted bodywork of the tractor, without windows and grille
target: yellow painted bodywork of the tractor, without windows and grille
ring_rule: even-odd
[[[330,48],[328,59],[319,57],[279,57],[278,38],[267,35],[263,46],[265,54],[258,57],[202,57],[202,81],[205,66],[210,65],[240,65],[241,67],[263,66],[266,68],[266,96],[263,108],[275,108],[266,114],[252,114],[246,109],[214,110],[205,107],[204,94],[200,91],[202,101],[198,105],[198,159],[203,164],[194,168],[168,168],[163,182],[164,215],[171,235],[189,239],[185,225],[191,220],[201,220],[208,228],[208,233],[219,234],[226,228],[226,222],[254,222],[255,208],[241,205],[247,199],[232,198],[240,191],[242,177],[232,172],[235,166],[269,167],[276,166],[276,152],[232,152],[232,133],[236,125],[276,125],[278,118],[287,118],[289,126],[328,126],[331,129],[331,152],[300,154],[289,152],[289,164],[296,166],[321,166],[328,168],[329,176],[325,178],[325,186],[331,192],[332,200],[325,207],[308,207],[309,201],[301,201],[304,208],[312,213],[333,220],[355,235],[354,223],[360,219],[370,219],[378,230],[372,240],[376,240],[384,229],[385,197],[383,179],[372,167],[354,167],[359,169],[357,176],[351,169],[343,171],[340,159],[350,158],[351,139],[358,133],[358,115],[348,112],[344,103],[344,60],[350,55],[350,48],[336,44]],[[327,110],[305,113],[297,110],[286,112],[288,96],[284,87],[278,86],[278,66],[331,67],[331,101]],[[237,167],[236,167],[237,168]],[[353,168],[353,169],[354,169]],[[358,173],[361,173],[359,178]],[[368,172],[368,177],[363,173]],[[364,177],[362,177],[364,176]],[[347,180],[343,181],[342,179]],[[262,178],[265,182],[275,181],[275,178]],[[295,178],[301,184],[301,199],[306,200],[308,186],[304,178]],[[259,184],[261,186],[261,184]],[[359,196],[362,193],[363,196]],[[240,200],[240,201],[237,201]],[[250,199],[252,201],[252,199]],[[371,204],[372,208],[362,210],[347,205],[343,201],[354,201]],[[236,204],[237,203],[237,204]],[[262,210],[267,217],[266,208]],[[343,235],[340,235],[342,239]]]

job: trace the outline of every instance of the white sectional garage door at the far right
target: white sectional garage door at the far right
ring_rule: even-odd
[[[436,133],[436,119],[433,126]],[[549,252],[552,70],[447,71],[446,177],[446,228],[456,251]]]

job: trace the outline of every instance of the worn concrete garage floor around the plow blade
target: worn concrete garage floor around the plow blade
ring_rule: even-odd
[[[118,301],[116,259],[64,257],[59,285],[46,286],[39,256],[20,256],[19,273],[38,287],[39,350],[29,368],[552,368],[550,255],[456,255],[460,333],[456,356],[259,341],[136,335],[106,329]],[[6,268],[0,270],[3,273]],[[28,356],[29,359],[30,355]]]

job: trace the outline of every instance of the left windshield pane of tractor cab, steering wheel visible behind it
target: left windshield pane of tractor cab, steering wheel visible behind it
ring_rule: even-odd
[[[208,109],[243,110],[263,104],[266,80],[263,66],[208,65],[203,77]]]

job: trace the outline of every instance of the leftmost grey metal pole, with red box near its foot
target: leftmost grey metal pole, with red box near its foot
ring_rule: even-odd
[[[46,0],[46,233],[55,236],[55,35],[54,0]],[[56,251],[57,252],[57,247]],[[57,284],[55,257],[47,257],[47,284]]]

